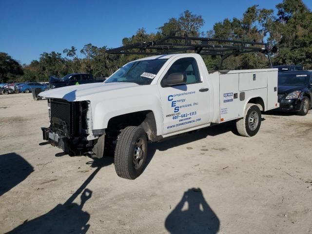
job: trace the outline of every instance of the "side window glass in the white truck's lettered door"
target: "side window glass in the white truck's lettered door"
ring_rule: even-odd
[[[186,84],[195,84],[201,82],[196,60],[191,57],[176,60],[169,68],[168,72],[164,76],[164,79],[166,79],[172,73],[185,73]]]

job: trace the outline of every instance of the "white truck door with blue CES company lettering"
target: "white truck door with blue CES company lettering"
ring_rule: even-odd
[[[186,73],[187,83],[165,86],[164,79],[173,73]],[[203,77],[206,74],[202,71],[202,64],[194,57],[183,56],[173,60],[163,74],[157,84],[163,114],[163,135],[208,123],[211,91],[208,78]]]

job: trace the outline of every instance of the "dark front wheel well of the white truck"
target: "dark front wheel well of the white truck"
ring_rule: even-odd
[[[153,141],[157,136],[157,131],[155,116],[151,110],[112,117],[108,121],[107,132],[116,135],[125,127],[140,125],[144,129],[148,139]]]

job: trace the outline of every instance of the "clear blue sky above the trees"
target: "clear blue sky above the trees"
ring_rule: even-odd
[[[303,0],[311,9],[312,0]],[[0,52],[21,63],[39,59],[42,52],[62,53],[72,45],[80,50],[92,43],[117,47],[138,28],[148,33],[185,11],[201,15],[202,31],[225,18],[241,18],[247,7],[275,9],[282,0],[0,0]]]

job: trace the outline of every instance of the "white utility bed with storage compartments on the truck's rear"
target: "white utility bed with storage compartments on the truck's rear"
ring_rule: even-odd
[[[273,68],[211,72],[210,79],[215,90],[213,103],[215,110],[218,109],[213,123],[243,117],[244,105],[252,98],[263,97],[259,106],[262,111],[278,107],[277,71]]]

